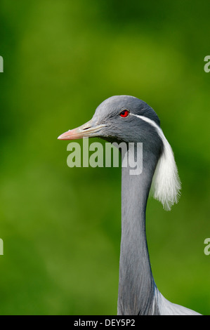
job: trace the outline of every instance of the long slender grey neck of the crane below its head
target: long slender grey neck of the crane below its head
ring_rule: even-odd
[[[159,314],[153,301],[152,277],[145,232],[145,209],[157,156],[143,150],[143,172],[122,168],[122,240],[119,261],[118,315]]]

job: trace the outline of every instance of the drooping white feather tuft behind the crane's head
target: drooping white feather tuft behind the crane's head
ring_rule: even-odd
[[[171,210],[171,206],[178,202],[181,190],[181,180],[178,176],[178,169],[173,157],[171,145],[166,140],[161,128],[158,133],[163,141],[162,155],[159,157],[157,167],[152,179],[152,196],[161,202],[166,211]]]

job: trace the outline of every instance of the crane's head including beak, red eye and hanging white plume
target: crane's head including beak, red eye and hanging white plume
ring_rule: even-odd
[[[157,114],[143,100],[117,95],[103,101],[86,124],[63,133],[58,139],[98,137],[117,143],[143,143],[145,172],[149,171],[152,177],[155,171],[152,194],[169,210],[178,202],[181,183],[173,151],[159,125]]]

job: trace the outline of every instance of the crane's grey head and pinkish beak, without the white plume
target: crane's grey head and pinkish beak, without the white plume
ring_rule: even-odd
[[[128,112],[126,117],[122,114]],[[160,125],[155,111],[143,100],[129,95],[116,95],[104,100],[97,108],[93,118],[86,124],[67,131],[58,137],[60,140],[98,137],[110,142],[126,142],[145,144],[145,150],[150,149],[159,155],[162,140],[157,129],[140,117]]]

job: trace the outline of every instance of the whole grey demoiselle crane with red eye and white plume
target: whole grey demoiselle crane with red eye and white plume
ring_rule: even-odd
[[[119,260],[118,315],[199,315],[166,300],[152,276],[145,232],[150,190],[164,209],[178,202],[181,182],[173,151],[155,111],[133,96],[103,101],[86,124],[63,133],[60,140],[103,138],[110,142],[143,143],[143,171],[122,167],[122,237]],[[134,156],[136,148],[133,148]],[[124,155],[126,157],[126,155]]]

